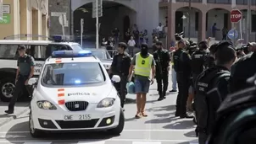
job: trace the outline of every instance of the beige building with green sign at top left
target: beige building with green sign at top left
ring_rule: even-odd
[[[36,35],[48,35],[47,11],[48,0],[3,0],[0,40],[46,39]]]

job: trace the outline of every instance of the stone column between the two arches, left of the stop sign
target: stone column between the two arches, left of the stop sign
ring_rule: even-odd
[[[199,13],[198,42],[206,40],[206,12]]]

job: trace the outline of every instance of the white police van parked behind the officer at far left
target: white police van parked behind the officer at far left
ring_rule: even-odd
[[[36,62],[34,76],[38,77],[44,61],[53,51],[64,47],[67,50],[81,51],[81,45],[72,42],[55,42],[48,40],[0,40],[0,100],[8,102],[13,97],[14,81],[17,70],[19,45],[25,45],[26,53],[33,56]],[[24,95],[28,95],[24,93]]]

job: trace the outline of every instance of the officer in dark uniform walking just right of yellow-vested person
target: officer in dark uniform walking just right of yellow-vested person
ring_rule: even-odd
[[[161,41],[157,41],[157,51],[153,53],[156,61],[156,79],[158,83],[159,101],[165,99],[168,88],[168,75],[170,71],[170,53],[163,49]]]

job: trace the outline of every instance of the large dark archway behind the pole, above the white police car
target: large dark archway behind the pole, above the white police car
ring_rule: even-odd
[[[103,1],[103,16],[99,18],[99,40],[112,36],[112,30],[114,28],[120,29],[120,40],[123,40],[125,35],[125,16],[130,18],[136,18],[134,15],[136,12],[131,8],[125,7],[120,3]],[[74,13],[74,33],[76,41],[81,40],[81,19],[84,19],[84,33],[83,33],[83,45],[86,47],[95,47],[96,40],[96,19],[92,19],[92,3],[86,3],[85,5],[77,8]],[[126,18],[126,21],[128,19]],[[129,24],[130,24],[129,23]],[[136,24],[135,19],[132,19],[132,23]]]

